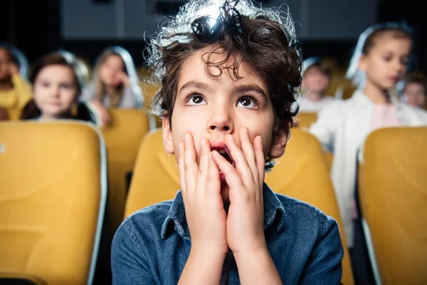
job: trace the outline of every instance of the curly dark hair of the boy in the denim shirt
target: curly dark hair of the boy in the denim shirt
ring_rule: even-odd
[[[203,14],[218,7],[219,16]],[[181,66],[196,51],[204,53],[206,72],[221,76],[226,70],[233,80],[241,78],[243,63],[265,75],[273,103],[275,130],[283,123],[292,126],[297,115],[302,58],[288,9],[260,9],[252,1],[189,1],[176,18],[167,21],[152,38],[147,63],[154,68],[154,80],[162,87],[154,96],[156,115],[172,120]],[[221,55],[221,61],[211,57]],[[212,74],[215,67],[220,72]]]

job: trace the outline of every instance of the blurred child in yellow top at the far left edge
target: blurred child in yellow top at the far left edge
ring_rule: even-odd
[[[0,46],[0,120],[17,119],[26,103],[31,100],[31,88],[20,75],[20,68],[26,73],[26,66],[19,62],[15,49]]]

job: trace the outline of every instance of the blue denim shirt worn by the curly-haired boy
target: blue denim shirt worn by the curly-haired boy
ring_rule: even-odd
[[[337,222],[264,184],[268,252],[283,284],[340,284],[343,249]],[[191,239],[181,192],[127,217],[112,242],[113,284],[177,284]],[[236,261],[228,284],[240,284]]]

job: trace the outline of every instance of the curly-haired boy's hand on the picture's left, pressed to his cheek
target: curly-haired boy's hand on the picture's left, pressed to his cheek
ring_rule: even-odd
[[[179,183],[191,235],[191,254],[200,254],[204,259],[218,257],[223,261],[228,252],[227,216],[221,197],[219,170],[210,154],[210,142],[204,138],[197,165],[194,140],[187,133],[184,142],[179,143]]]

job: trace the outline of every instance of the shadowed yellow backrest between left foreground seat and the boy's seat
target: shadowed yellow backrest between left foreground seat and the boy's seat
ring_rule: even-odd
[[[110,231],[122,222],[127,196],[127,174],[133,171],[142,138],[149,132],[149,115],[139,109],[111,109],[110,125],[102,128],[107,146],[108,213]]]

